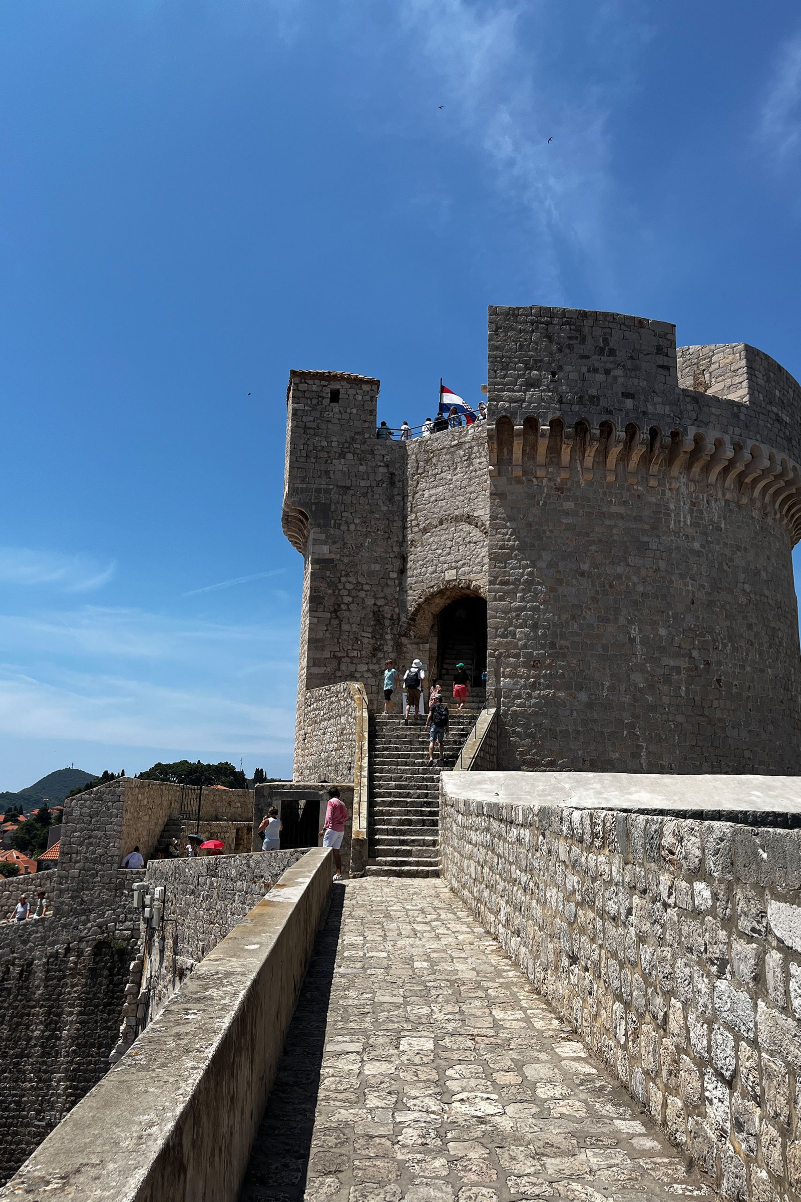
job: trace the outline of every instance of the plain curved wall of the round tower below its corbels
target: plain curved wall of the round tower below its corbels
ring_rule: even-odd
[[[629,495],[578,472],[498,476],[492,511],[502,767],[801,770],[783,525],[686,480]]]

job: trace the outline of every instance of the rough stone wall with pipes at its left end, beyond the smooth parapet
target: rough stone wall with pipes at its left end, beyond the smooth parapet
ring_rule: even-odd
[[[250,841],[250,826],[247,837]],[[298,850],[150,861],[145,881],[151,895],[165,887],[165,902],[157,928],[145,926],[142,936],[141,1027],[153,1022],[197,964],[304,855]]]

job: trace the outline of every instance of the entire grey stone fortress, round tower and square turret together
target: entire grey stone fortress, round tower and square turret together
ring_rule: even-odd
[[[490,309],[488,382],[486,423],[400,444],[375,438],[377,381],[292,373],[299,730],[310,689],[363,679],[377,704],[385,655],[442,664],[473,599],[500,767],[797,774],[795,380],[743,344],[531,307]]]

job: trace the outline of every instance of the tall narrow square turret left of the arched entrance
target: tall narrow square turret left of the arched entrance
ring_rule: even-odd
[[[378,667],[396,654],[406,453],[376,439],[377,394],[365,376],[289,377],[283,528],[305,560],[298,732],[309,690],[345,677],[376,703]]]

